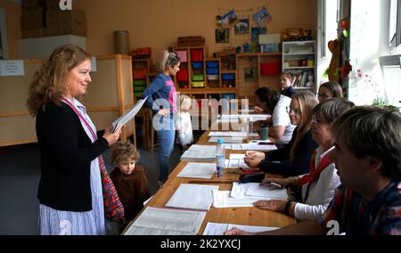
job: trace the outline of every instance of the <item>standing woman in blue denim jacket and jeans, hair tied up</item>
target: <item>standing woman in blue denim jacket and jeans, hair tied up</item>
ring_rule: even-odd
[[[160,61],[160,73],[153,79],[151,85],[143,91],[143,97],[148,97],[146,105],[153,110],[153,128],[156,130],[160,143],[160,182],[168,178],[168,159],[174,148],[176,131],[174,114],[176,114],[176,87],[170,76],[176,76],[180,70],[181,59],[176,53],[163,52]]]

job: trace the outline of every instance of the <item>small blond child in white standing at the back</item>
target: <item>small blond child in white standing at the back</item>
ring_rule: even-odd
[[[192,100],[188,95],[180,95],[180,110],[176,116],[176,130],[178,131],[178,142],[183,151],[193,143],[192,121],[189,110],[192,107]]]

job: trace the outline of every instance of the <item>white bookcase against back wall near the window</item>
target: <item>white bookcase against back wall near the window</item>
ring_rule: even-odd
[[[317,93],[316,86],[316,42],[291,41],[282,43],[282,72],[291,73],[296,90]]]

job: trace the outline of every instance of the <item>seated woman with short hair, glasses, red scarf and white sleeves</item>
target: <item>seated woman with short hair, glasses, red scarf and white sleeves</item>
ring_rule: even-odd
[[[268,178],[262,182],[262,184],[300,186],[300,196],[291,196],[291,200],[258,200],[254,203],[256,207],[282,211],[287,215],[295,216],[299,221],[315,220],[323,215],[334,195],[334,190],[340,185],[337,169],[330,159],[334,141],[329,131],[329,125],[335,118],[353,106],[353,102],[338,98],[316,105],[311,125],[312,136],[319,147],[311,159],[309,173],[287,178]],[[271,185],[270,187],[277,186]]]

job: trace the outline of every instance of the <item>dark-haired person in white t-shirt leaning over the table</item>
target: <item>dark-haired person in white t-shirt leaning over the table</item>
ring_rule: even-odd
[[[255,112],[264,111],[272,114],[273,126],[269,127],[269,136],[275,139],[279,148],[290,143],[295,126],[291,124],[286,108],[290,106],[291,98],[267,87],[258,88],[255,94],[257,103],[257,106],[254,107]]]

